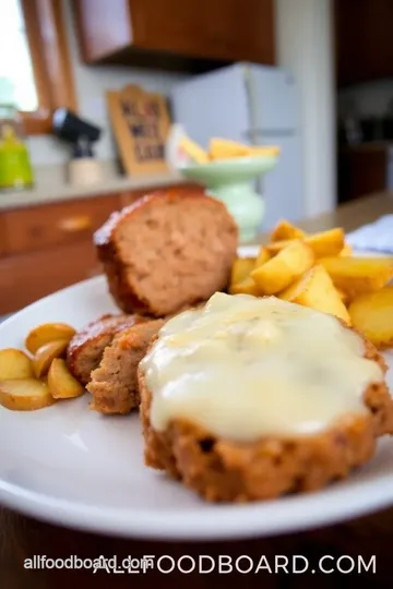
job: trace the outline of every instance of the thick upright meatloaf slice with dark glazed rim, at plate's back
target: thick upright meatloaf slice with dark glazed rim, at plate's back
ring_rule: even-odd
[[[238,230],[223,203],[168,190],[112,214],[94,241],[119,308],[159,317],[227,287]]]

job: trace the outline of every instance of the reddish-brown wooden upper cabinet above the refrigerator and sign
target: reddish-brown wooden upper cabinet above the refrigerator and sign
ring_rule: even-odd
[[[165,53],[275,62],[274,0],[74,0],[87,63]],[[133,60],[134,62],[134,60]]]

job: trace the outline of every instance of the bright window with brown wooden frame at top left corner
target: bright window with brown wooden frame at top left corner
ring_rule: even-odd
[[[0,103],[22,112],[28,134],[49,133],[58,107],[75,110],[59,0],[0,1]]]

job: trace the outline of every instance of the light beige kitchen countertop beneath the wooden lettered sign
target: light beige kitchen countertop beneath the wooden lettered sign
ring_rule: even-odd
[[[127,177],[115,171],[110,163],[103,164],[103,181],[88,185],[70,185],[66,182],[61,166],[43,166],[34,170],[35,187],[32,190],[0,191],[0,211],[49,204],[72,199],[97,196],[140,189],[154,189],[178,184],[186,180],[175,172]]]

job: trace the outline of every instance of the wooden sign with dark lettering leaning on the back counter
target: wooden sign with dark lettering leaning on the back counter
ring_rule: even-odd
[[[107,93],[109,118],[129,176],[168,171],[165,142],[170,119],[164,96],[127,86]]]

